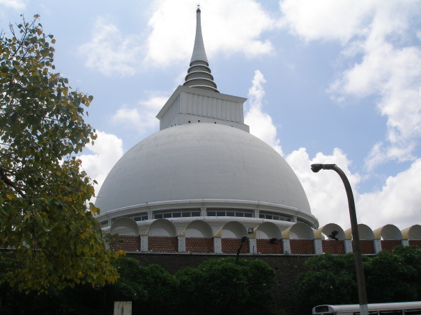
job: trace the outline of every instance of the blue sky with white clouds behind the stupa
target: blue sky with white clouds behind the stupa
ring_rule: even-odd
[[[247,97],[250,133],[279,152],[320,226],[421,224],[421,0],[201,0],[218,90]],[[54,64],[93,95],[82,166],[100,184],[184,83],[198,1],[0,0],[0,29],[40,15]]]

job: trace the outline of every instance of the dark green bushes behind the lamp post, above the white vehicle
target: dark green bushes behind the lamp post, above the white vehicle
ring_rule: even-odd
[[[369,303],[420,300],[421,248],[397,246],[362,259]],[[353,254],[323,254],[305,266],[296,280],[296,297],[307,312],[321,304],[358,304]]]

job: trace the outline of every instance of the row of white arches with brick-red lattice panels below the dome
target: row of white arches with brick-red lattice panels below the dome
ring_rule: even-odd
[[[343,230],[335,223],[312,229],[305,223],[295,223],[283,231],[271,222],[245,227],[238,221],[224,223],[219,229],[204,220],[194,220],[186,227],[176,227],[167,219],[154,220],[144,231],[131,218],[118,218],[109,229],[110,234],[120,234],[123,243],[114,243],[113,249],[140,252],[197,252],[236,253],[240,240],[247,236],[243,254],[320,255],[323,252],[344,254],[352,252],[351,229]],[[395,225],[385,225],[372,230],[358,225],[361,251],[376,254],[392,250],[396,245],[421,247],[421,225],[399,230]]]

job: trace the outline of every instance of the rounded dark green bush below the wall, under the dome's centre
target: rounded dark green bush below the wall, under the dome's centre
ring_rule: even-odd
[[[264,261],[211,259],[176,273],[189,314],[271,314],[275,273]]]

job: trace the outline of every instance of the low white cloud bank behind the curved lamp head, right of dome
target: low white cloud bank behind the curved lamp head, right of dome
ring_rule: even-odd
[[[313,163],[333,163],[348,177],[355,200],[358,223],[375,229],[393,224],[404,229],[413,224],[421,213],[421,159],[413,162],[408,170],[390,176],[379,191],[358,193],[361,177],[350,170],[351,162],[344,152],[335,149],[331,155],[319,152],[311,159],[305,148],[293,151],[286,161],[296,172],[307,194],[312,213],[321,226],[337,223],[344,229],[351,227],[344,184],[332,170],[312,172]]]

